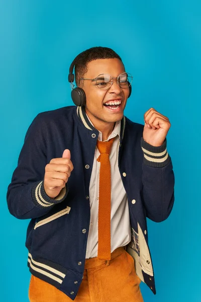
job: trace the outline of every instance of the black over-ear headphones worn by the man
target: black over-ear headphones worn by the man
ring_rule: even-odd
[[[69,74],[68,74],[68,82],[71,83],[71,86],[72,86],[71,98],[72,98],[73,103],[76,106],[84,106],[86,104],[86,95],[85,95],[84,90],[80,87],[73,88],[73,84],[72,84],[74,82],[74,79],[75,79],[75,76],[73,74],[73,68],[74,68],[74,65],[75,65],[75,62],[76,62],[76,59],[77,59],[78,56],[79,55],[76,56],[76,58],[72,61],[71,65],[70,65]],[[131,88],[131,85],[130,85],[129,86],[129,96],[128,96],[128,98],[130,97],[131,92],[132,92],[132,88]]]

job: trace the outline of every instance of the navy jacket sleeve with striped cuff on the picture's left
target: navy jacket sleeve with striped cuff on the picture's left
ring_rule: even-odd
[[[7,202],[12,215],[20,219],[43,216],[67,195],[67,186],[50,198],[43,186],[46,158],[46,124],[38,114],[27,130],[18,166],[8,186]]]

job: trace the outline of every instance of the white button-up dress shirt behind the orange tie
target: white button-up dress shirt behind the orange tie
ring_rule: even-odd
[[[88,116],[87,116],[88,117]],[[89,118],[88,118],[89,119]],[[90,120],[89,120],[90,121]],[[90,121],[91,123],[91,121]],[[92,124],[92,123],[91,123]],[[111,163],[111,253],[118,247],[127,245],[131,241],[131,227],[129,206],[126,191],[124,189],[118,167],[119,139],[121,121],[116,122],[110,138],[116,137],[110,154]],[[102,141],[102,132],[99,131],[98,140]],[[86,246],[86,259],[97,257],[98,245],[98,196],[100,163],[97,158],[100,155],[97,146],[93,160],[89,184],[90,200],[90,226]]]

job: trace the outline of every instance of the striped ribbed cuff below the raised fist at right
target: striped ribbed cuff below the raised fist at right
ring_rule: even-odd
[[[165,138],[161,146],[152,146],[141,138],[141,148],[144,153],[144,164],[154,168],[162,168],[170,162],[169,154],[167,153],[167,140]]]

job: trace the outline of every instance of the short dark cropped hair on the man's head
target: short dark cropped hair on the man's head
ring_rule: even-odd
[[[81,52],[75,61],[75,83],[79,85],[79,79],[82,79],[87,72],[87,64],[97,59],[119,59],[121,57],[111,48],[96,46]],[[82,86],[82,85],[81,85]]]

